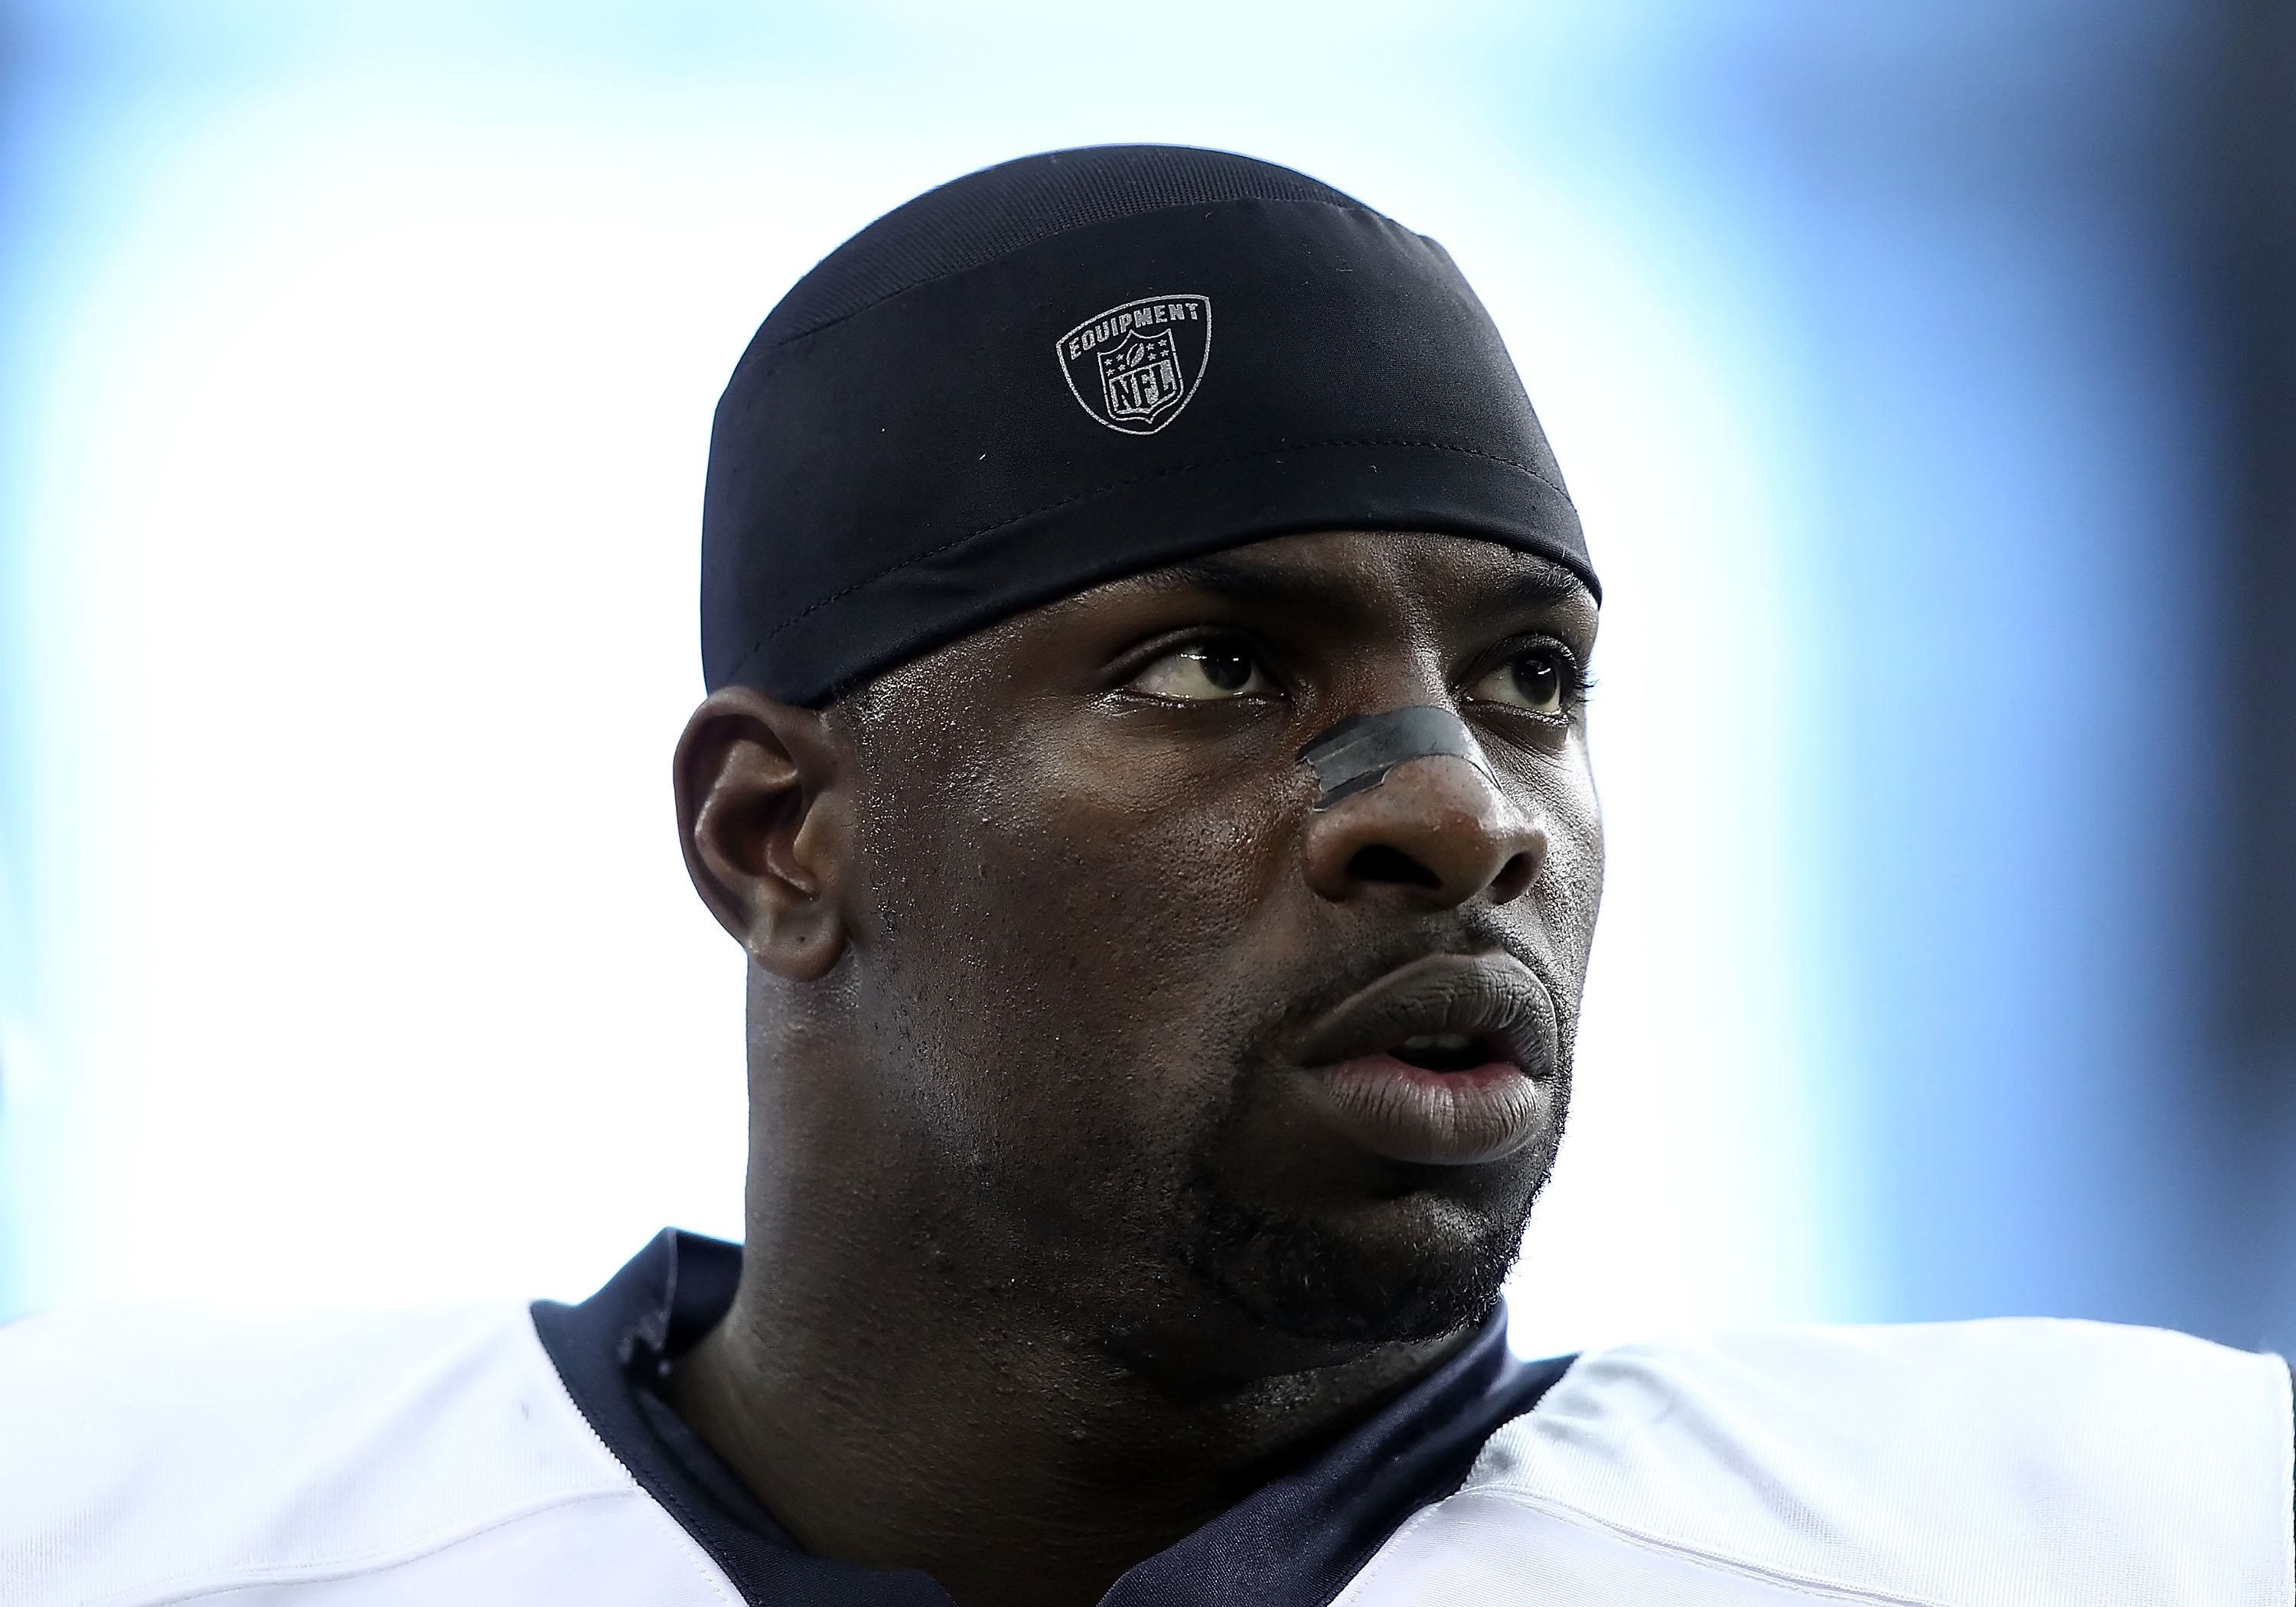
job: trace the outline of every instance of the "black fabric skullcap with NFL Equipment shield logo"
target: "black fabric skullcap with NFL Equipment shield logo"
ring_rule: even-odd
[[[1600,595],[1442,246],[1249,156],[1024,156],[877,218],[748,342],[703,673],[815,705],[1086,585],[1339,528],[1506,542]]]

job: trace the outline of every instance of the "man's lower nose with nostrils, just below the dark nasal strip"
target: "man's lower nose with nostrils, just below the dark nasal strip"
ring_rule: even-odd
[[[1309,815],[1306,826],[1306,882],[1332,902],[1504,905],[1531,886],[1545,859],[1545,824],[1449,753],[1396,764],[1368,792]]]

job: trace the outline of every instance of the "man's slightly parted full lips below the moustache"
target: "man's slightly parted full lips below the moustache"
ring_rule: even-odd
[[[1300,1040],[1309,1095],[1359,1148],[1426,1166],[1506,1159],[1550,1127],[1554,1003],[1511,955],[1428,955]]]

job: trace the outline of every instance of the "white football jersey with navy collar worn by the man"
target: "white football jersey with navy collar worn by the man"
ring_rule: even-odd
[[[581,1306],[0,1329],[5,1607],[948,1607],[808,1556],[650,1389],[737,1251]],[[2289,1373],[2158,1329],[1495,1322],[1107,1607],[2289,1607]],[[1026,1559],[1015,1559],[1026,1568]]]

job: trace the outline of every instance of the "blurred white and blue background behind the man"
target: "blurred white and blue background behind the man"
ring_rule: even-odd
[[[737,1231],[739,960],[666,787],[716,388],[907,195],[1169,140],[1442,239],[1605,569],[1515,1343],[2296,1345],[2285,32],[18,0],[0,1313],[579,1295]]]

